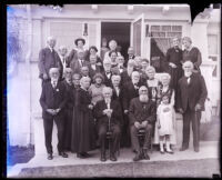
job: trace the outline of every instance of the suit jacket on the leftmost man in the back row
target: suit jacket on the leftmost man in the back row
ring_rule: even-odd
[[[63,68],[59,54],[56,50],[51,52],[49,48],[43,48],[39,52],[39,78],[43,78],[43,73],[47,73],[49,77],[50,68],[59,68],[60,77],[62,74]]]

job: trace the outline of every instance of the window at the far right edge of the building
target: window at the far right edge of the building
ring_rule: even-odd
[[[219,44],[218,44],[218,34],[208,34],[208,49],[209,49],[209,59],[215,62],[214,70],[212,76],[214,78],[219,77]]]

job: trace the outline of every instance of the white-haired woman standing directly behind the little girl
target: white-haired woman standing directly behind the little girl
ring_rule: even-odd
[[[172,88],[170,88],[170,80],[171,80],[171,76],[169,73],[163,73],[161,76],[161,86],[159,89],[159,96],[160,98],[158,99],[158,104],[157,107],[159,107],[159,104],[161,103],[161,99],[163,96],[168,96],[169,97],[169,103],[171,104],[171,107],[173,108],[173,113],[174,112],[174,90]],[[174,116],[175,117],[175,116]],[[175,122],[175,121],[174,121]],[[175,124],[174,124],[175,127]],[[158,124],[155,124],[155,131],[154,131],[154,143],[159,143],[159,136],[158,136]],[[175,144],[175,131],[172,132],[172,134],[170,136],[170,143],[171,144]]]

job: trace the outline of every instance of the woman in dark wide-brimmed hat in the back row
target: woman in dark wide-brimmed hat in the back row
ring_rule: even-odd
[[[74,40],[74,44],[75,44],[75,48],[73,48],[71,52],[69,53],[68,61],[71,62],[73,59],[78,60],[78,51],[80,50],[84,52],[83,59],[87,59],[89,54],[89,50],[84,48],[85,40],[83,38],[78,38]]]

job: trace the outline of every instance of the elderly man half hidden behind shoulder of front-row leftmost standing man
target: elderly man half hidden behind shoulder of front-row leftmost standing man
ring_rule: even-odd
[[[72,127],[72,112],[73,112],[73,103],[71,101],[72,91],[74,91],[74,84],[72,83],[72,69],[65,68],[64,69],[64,80],[62,81],[67,89],[67,97],[68,101],[64,108],[64,149],[70,151],[71,150],[71,127]]]

